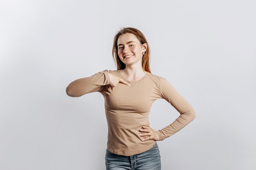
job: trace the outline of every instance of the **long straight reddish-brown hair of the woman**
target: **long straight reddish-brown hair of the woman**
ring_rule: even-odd
[[[126,33],[134,34],[138,38],[138,40],[141,44],[144,44],[144,43],[148,44],[144,34],[141,31],[139,31],[138,29],[127,27],[127,28],[123,28],[120,31],[118,31],[118,33],[115,35],[113,48],[112,48],[112,57],[117,66],[117,70],[123,70],[124,68],[126,68],[126,65],[120,60],[118,53],[117,53],[117,51],[118,51],[117,40],[120,37],[120,35],[124,35]],[[148,48],[145,51],[145,54],[142,57],[141,64],[142,64],[142,68],[144,71],[151,73],[150,68],[149,68],[149,62],[150,62],[150,49],[148,46]]]

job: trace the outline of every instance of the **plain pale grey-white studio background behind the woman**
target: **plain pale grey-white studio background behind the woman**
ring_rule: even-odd
[[[103,97],[68,97],[74,79],[115,70],[121,27],[141,30],[151,71],[197,117],[159,141],[163,170],[256,169],[254,0],[1,0],[0,169],[104,170]],[[157,100],[158,130],[179,114]]]

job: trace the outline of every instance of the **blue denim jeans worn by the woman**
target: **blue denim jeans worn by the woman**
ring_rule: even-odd
[[[138,155],[116,155],[106,150],[106,170],[161,170],[157,144]]]

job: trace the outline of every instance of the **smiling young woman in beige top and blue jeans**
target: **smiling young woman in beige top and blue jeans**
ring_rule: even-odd
[[[175,134],[195,118],[191,105],[166,79],[149,68],[150,50],[135,28],[121,29],[114,38],[115,71],[101,71],[67,86],[67,95],[100,92],[108,122],[107,170],[160,170],[156,141]],[[150,128],[148,115],[156,99],[165,99],[180,116],[162,130]]]

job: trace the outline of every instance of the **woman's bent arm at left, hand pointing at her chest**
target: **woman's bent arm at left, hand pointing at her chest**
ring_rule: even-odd
[[[101,71],[90,77],[76,79],[74,82],[71,82],[66,88],[66,93],[70,97],[80,97],[87,93],[100,91],[106,85],[115,87],[119,82],[130,85],[117,75]]]

